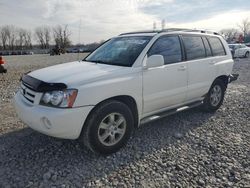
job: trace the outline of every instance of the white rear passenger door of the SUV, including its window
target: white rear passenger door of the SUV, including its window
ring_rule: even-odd
[[[193,101],[207,93],[215,77],[216,61],[205,37],[184,35],[182,40],[188,63],[187,101]]]

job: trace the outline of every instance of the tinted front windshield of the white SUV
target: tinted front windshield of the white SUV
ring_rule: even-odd
[[[113,38],[97,48],[84,61],[130,67],[151,38],[151,36]]]

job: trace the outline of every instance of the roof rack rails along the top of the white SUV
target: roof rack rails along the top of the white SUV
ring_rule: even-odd
[[[163,33],[163,32],[174,32],[174,31],[183,31],[183,32],[198,32],[198,33],[207,33],[213,35],[220,35],[218,32],[205,30],[205,29],[185,29],[185,28],[168,28],[163,30],[148,30],[148,31],[136,31],[136,32],[129,32],[129,33],[122,33],[122,35],[129,35],[129,34],[141,34],[141,33]]]

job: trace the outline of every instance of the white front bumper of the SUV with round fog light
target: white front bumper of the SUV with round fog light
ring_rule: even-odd
[[[31,105],[20,92],[14,97],[14,105],[19,118],[29,127],[43,134],[64,139],[79,137],[87,115],[93,108],[86,106],[60,109]]]

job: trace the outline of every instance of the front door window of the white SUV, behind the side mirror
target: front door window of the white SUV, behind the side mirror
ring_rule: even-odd
[[[151,47],[148,56],[162,55],[165,64],[182,61],[181,45],[178,36],[164,36],[159,38]]]

